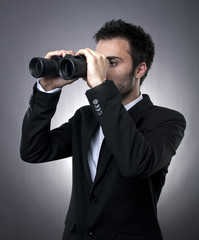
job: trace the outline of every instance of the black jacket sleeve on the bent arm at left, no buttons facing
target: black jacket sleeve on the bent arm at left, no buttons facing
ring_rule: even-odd
[[[44,93],[34,86],[22,124],[20,155],[24,161],[40,163],[71,156],[70,121],[50,130],[60,92]]]

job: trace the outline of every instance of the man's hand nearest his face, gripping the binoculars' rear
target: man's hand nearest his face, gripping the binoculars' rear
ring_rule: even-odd
[[[93,88],[105,82],[109,65],[108,59],[90,48],[81,49],[76,55],[81,54],[84,55],[87,60],[86,81],[88,86]]]

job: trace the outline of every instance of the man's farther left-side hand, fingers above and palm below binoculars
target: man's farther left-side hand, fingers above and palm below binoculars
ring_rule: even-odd
[[[61,57],[65,57],[66,54],[75,55],[73,51],[65,51],[65,50],[57,50],[53,52],[48,52],[45,58],[50,59],[52,56],[57,55]],[[62,88],[65,85],[71,84],[77,79],[73,80],[64,80],[61,77],[44,77],[40,80],[40,84],[45,91],[50,91],[55,88]]]

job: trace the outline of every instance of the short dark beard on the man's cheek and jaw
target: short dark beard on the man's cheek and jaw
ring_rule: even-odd
[[[122,76],[119,76],[115,79],[114,83],[118,88],[122,98],[127,96],[130,92],[133,91],[134,88],[134,72],[131,71],[130,73],[126,73]]]

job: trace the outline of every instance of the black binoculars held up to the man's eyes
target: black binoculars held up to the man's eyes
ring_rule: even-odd
[[[52,56],[50,59],[35,57],[29,63],[33,77],[62,77],[65,80],[82,78],[87,75],[87,62],[84,55],[65,57]]]

